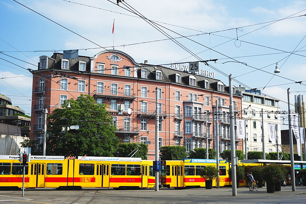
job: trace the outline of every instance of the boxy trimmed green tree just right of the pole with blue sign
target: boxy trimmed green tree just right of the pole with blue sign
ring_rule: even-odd
[[[187,156],[186,147],[163,146],[160,148],[160,160],[182,160]]]

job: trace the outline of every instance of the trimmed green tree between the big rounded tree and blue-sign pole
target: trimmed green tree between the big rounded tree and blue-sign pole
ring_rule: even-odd
[[[138,145],[140,146],[140,148],[138,149]],[[148,154],[148,145],[146,144],[139,144],[136,145],[135,143],[121,143],[119,144],[119,148],[118,148],[118,154],[119,156],[123,156],[123,157],[130,157],[132,156],[132,154],[134,153],[133,151],[135,149],[138,149],[138,151],[134,154],[133,157],[141,157],[141,159],[146,160],[147,154]],[[133,153],[131,153],[133,152]]]

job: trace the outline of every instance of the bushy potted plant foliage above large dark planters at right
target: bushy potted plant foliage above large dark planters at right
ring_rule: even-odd
[[[279,164],[269,164],[263,166],[263,180],[268,183],[276,183],[285,180],[287,170],[285,166]]]

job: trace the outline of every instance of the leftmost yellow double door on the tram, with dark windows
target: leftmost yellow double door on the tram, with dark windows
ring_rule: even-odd
[[[45,164],[31,163],[31,177],[29,187],[45,187]]]

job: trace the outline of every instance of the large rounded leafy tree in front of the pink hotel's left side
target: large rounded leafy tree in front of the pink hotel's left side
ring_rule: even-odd
[[[67,108],[70,103],[71,108]],[[47,117],[47,155],[60,156],[117,156],[119,139],[116,127],[105,104],[96,104],[89,95],[64,101]],[[79,129],[62,131],[63,127],[79,125]]]

